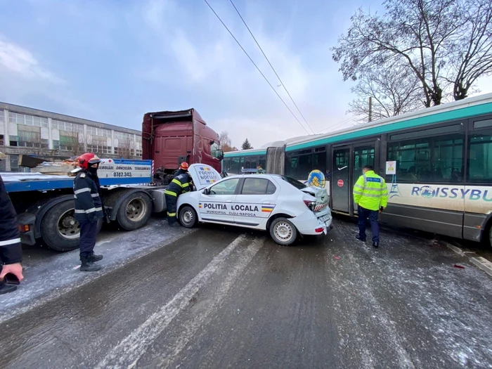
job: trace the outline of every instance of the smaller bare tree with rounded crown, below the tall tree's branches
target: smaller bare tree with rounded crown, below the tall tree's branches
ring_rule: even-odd
[[[369,120],[369,98],[373,100],[373,120],[403,114],[422,106],[418,79],[404,66],[394,65],[387,70],[365,74],[351,91],[357,97],[349,103],[347,112],[361,123]]]

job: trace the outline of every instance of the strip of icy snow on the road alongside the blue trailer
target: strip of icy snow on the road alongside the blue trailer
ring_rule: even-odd
[[[24,257],[25,279],[17,291],[0,295],[0,323],[100,278],[122,264],[169,245],[193,231],[171,228],[165,219],[151,219],[147,226],[136,231],[114,232],[96,244],[94,251],[104,256],[103,260],[98,261],[103,268],[97,272],[79,271],[79,250],[57,253],[52,257],[46,252],[46,257],[34,264]]]

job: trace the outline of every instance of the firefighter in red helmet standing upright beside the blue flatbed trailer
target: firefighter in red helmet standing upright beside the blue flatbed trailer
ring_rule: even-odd
[[[99,159],[93,153],[85,153],[78,158],[82,168],[74,179],[75,220],[80,224],[80,261],[81,271],[98,271],[101,266],[94,261],[103,259],[103,255],[94,254],[98,221],[103,218],[101,186],[97,175]]]

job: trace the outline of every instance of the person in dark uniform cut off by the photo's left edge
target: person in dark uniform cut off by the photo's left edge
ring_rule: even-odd
[[[0,153],[0,160],[4,159],[5,154]],[[19,281],[24,278],[21,261],[22,247],[17,213],[0,176],[0,294],[17,290],[16,285],[7,285],[4,279],[8,273],[13,274]]]

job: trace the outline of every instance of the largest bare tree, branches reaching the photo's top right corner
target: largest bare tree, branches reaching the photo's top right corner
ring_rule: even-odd
[[[478,77],[491,72],[487,61],[490,0],[386,0],[383,4],[382,17],[359,9],[339,46],[332,48],[344,80],[404,65],[420,82],[423,103],[429,107],[439,105],[453,83],[458,86],[457,98]],[[470,46],[470,52],[463,53],[463,45]],[[463,61],[462,67],[458,60]],[[450,77],[453,69],[456,77]]]

